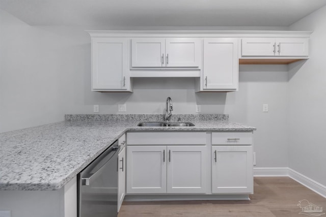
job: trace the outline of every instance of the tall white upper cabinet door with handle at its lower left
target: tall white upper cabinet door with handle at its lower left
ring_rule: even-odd
[[[204,39],[202,85],[204,90],[238,88],[237,39]]]

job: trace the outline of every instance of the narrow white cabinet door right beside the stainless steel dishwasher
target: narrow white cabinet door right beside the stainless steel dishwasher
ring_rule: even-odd
[[[118,212],[126,194],[126,149],[118,155]]]

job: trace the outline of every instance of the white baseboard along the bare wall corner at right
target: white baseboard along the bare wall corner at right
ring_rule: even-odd
[[[288,167],[255,167],[254,177],[287,176],[326,198],[326,186]]]

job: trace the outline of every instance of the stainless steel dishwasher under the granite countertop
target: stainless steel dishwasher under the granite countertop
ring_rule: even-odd
[[[78,217],[117,216],[118,141],[77,175]]]

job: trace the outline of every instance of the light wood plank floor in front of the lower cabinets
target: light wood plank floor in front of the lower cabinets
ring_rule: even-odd
[[[326,212],[326,199],[288,177],[255,177],[250,201],[149,201],[123,202],[118,217],[291,217],[300,200],[308,200]],[[326,214],[321,215],[326,217]]]

